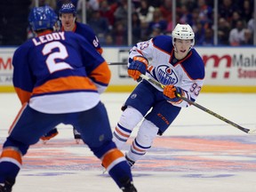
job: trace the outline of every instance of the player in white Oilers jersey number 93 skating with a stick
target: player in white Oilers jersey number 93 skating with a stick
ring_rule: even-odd
[[[129,52],[128,74],[140,81],[140,74],[164,84],[164,91],[142,80],[123,106],[123,114],[114,131],[114,141],[122,149],[133,128],[139,132],[126,152],[132,166],[151,148],[156,135],[162,135],[188,102],[176,92],[195,101],[204,82],[204,62],[193,48],[195,34],[187,24],[177,24],[172,36],[156,36],[140,42]],[[148,60],[151,60],[148,63]]]

